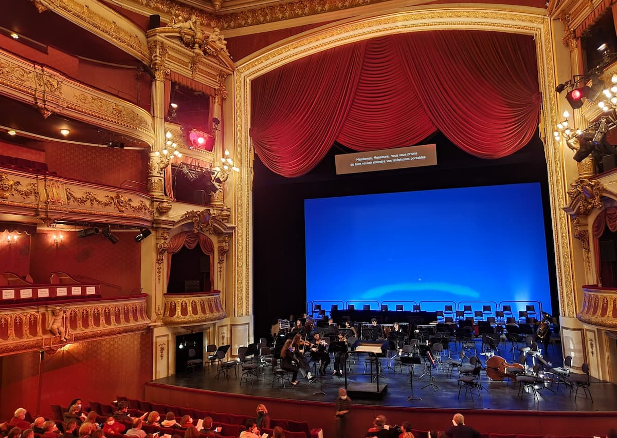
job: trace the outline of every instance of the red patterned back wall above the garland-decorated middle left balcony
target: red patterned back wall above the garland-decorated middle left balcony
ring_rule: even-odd
[[[130,145],[130,144],[127,144]],[[146,190],[147,160],[142,150],[73,144],[48,144],[46,162],[59,176],[120,186],[125,180],[143,183]],[[135,187],[135,184],[132,185]]]

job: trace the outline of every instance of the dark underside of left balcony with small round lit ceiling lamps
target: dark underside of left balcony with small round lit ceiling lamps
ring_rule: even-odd
[[[141,140],[113,134],[97,126],[65,118],[61,115],[52,114],[48,118],[44,118],[37,108],[6,97],[0,96],[0,108],[0,125],[7,129],[28,132],[51,139],[70,140],[71,142],[107,144],[107,142],[114,141],[123,142],[125,147],[147,147],[147,144]],[[65,137],[60,134],[60,129],[68,129],[70,133]],[[4,136],[7,135],[6,130],[2,129],[2,132]],[[19,142],[18,137],[19,135],[7,136],[6,139],[15,143]],[[35,138],[35,136],[28,135],[25,137]]]

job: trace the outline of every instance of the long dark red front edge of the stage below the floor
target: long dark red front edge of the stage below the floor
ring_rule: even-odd
[[[285,391],[285,390],[281,390]],[[289,400],[276,397],[230,394],[189,387],[149,382],[144,389],[146,400],[157,403],[194,407],[214,412],[255,415],[257,404],[267,406],[271,418],[309,421],[312,428],[323,428],[325,438],[336,437],[334,399],[315,396],[312,400]],[[318,399],[323,397],[323,399]],[[385,415],[389,424],[410,421],[414,429],[444,430],[452,424],[452,415],[465,415],[465,424],[480,432],[499,434],[542,434],[553,436],[606,436],[615,428],[617,412],[558,412],[547,410],[494,410],[453,408],[392,407],[352,405],[348,437],[365,436],[377,415]]]

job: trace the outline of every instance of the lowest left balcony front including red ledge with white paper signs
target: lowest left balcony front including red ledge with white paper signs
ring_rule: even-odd
[[[0,304],[0,355],[57,351],[67,344],[145,331],[150,323],[146,294],[101,298],[97,285],[39,286],[0,286],[6,298]],[[66,341],[50,330],[56,308]]]

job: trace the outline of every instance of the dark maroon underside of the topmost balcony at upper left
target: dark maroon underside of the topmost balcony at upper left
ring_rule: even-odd
[[[39,14],[28,0],[0,0],[0,27],[60,51],[120,65],[136,65],[130,54],[51,11]],[[10,13],[6,13],[10,11]]]

